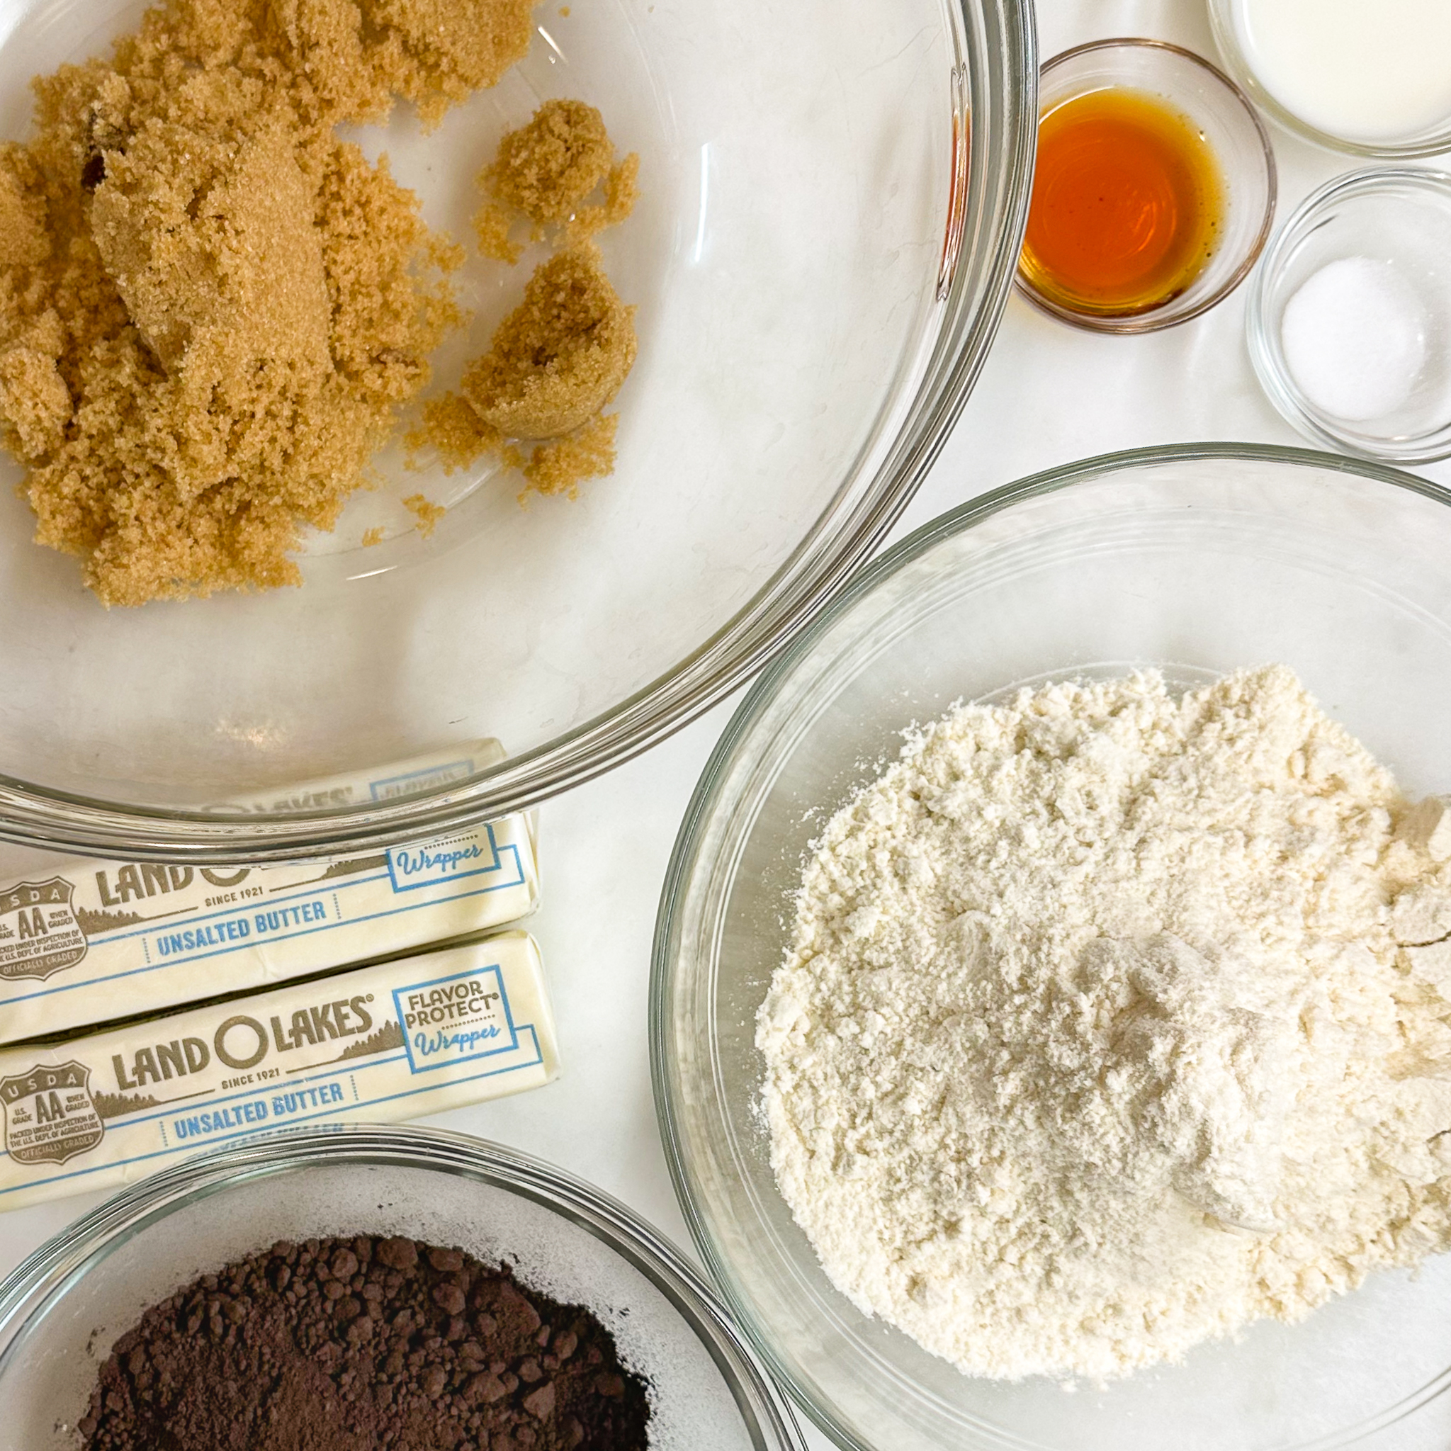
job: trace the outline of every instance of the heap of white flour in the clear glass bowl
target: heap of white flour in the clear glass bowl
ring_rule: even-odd
[[[1106,1378],[1451,1248],[1451,813],[1290,670],[962,708],[814,850],[757,1043],[862,1309]]]

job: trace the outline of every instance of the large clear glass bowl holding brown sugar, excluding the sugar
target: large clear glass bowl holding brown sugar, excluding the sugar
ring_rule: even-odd
[[[0,135],[28,81],[106,52],[139,0],[0,0]],[[441,833],[573,785],[724,695],[882,537],[958,416],[1017,263],[1036,122],[1030,0],[541,6],[528,58],[386,149],[472,235],[473,177],[547,96],[640,154],[604,234],[637,306],[614,476],[517,502],[495,466],[380,461],[306,583],[106,611],[30,543],[0,473],[0,833],[266,859]],[[540,252],[540,255],[543,255]],[[451,385],[528,273],[473,257]],[[448,506],[419,537],[402,498]],[[366,530],[387,538],[363,547]],[[498,739],[496,763],[470,743]],[[411,760],[454,769],[396,781]],[[355,775],[361,802],[216,813]],[[357,794],[354,794],[357,795]]]

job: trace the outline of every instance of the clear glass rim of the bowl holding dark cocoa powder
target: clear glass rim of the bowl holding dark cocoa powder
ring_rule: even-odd
[[[685,1257],[620,1200],[544,1159],[444,1129],[344,1125],[258,1135],[160,1170],[97,1204],[35,1249],[0,1283],[0,1374],[32,1323],[110,1249],[173,1210],[309,1167],[383,1164],[454,1174],[503,1188],[582,1226],[644,1275],[689,1325],[770,1451],[807,1451],[791,1403],[720,1297]]]

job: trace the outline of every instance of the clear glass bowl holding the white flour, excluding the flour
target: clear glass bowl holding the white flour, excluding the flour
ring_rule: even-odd
[[[776,1190],[755,1016],[802,853],[953,701],[1158,666],[1294,667],[1412,795],[1451,788],[1451,493],[1255,445],[1142,450],[918,530],[762,676],[696,788],[656,930],[651,1056],[676,1190],[746,1333],[853,1451],[1439,1451],[1451,1255],[1300,1325],[1107,1389],[961,1374],[827,1281]]]

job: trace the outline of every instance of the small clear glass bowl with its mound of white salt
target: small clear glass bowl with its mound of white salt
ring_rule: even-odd
[[[1251,283],[1248,334],[1259,383],[1307,438],[1451,457],[1451,176],[1368,167],[1309,196]]]

